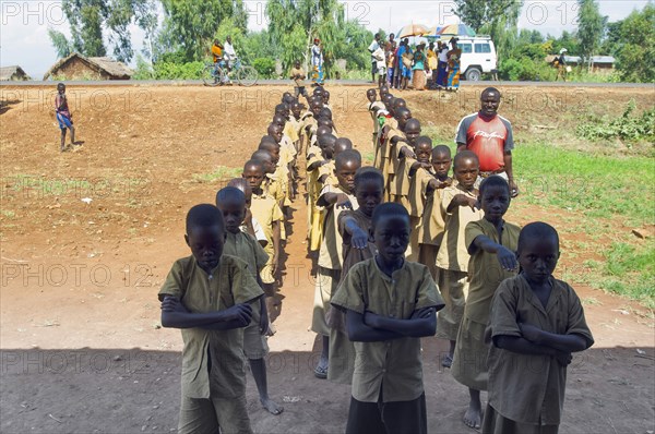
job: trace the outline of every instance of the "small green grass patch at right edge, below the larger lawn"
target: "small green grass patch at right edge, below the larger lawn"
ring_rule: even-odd
[[[594,287],[615,292],[655,309],[655,246],[612,243],[604,253],[602,278]]]

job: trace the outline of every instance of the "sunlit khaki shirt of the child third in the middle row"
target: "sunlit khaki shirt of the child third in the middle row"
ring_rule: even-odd
[[[343,190],[341,185],[325,183],[325,186],[323,186],[323,190],[321,190],[319,198],[326,193],[346,194],[350,200],[353,209],[357,209],[359,207],[357,204],[357,198]],[[336,204],[332,204],[323,208],[323,241],[321,242],[318,263],[323,268],[342,269],[342,264],[344,263],[343,240],[337,230],[337,221],[338,216],[343,210],[343,208],[337,208]]]

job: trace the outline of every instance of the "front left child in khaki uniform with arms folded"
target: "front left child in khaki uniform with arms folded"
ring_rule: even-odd
[[[210,204],[187,214],[191,256],[159,290],[162,325],[180,328],[182,399],[178,433],[252,433],[246,407],[243,327],[262,289],[241,260],[224,255],[225,222]]]

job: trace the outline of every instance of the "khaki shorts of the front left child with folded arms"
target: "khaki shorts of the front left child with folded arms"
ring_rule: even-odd
[[[222,434],[252,433],[246,396],[207,399],[182,396],[178,434],[218,432]]]

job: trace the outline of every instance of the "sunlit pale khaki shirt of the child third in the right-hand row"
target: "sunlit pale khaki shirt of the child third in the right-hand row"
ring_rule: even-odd
[[[437,266],[453,272],[468,270],[468,243],[464,239],[466,225],[479,220],[485,216],[481,209],[471,209],[471,206],[456,206],[452,213],[448,213],[448,206],[457,194],[477,198],[476,193],[455,186],[446,186],[441,193],[441,213],[445,216],[445,226],[441,246],[437,254]]]

